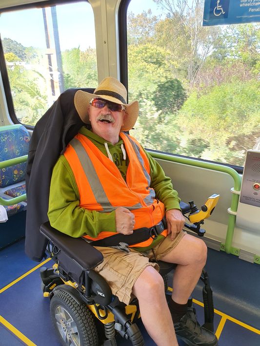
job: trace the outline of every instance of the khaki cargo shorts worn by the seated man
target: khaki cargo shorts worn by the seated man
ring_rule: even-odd
[[[154,247],[156,259],[160,260],[176,247],[185,234],[185,231],[181,231],[173,241],[167,236],[157,244]],[[152,266],[159,271],[157,263],[149,262],[149,259],[154,258],[152,250],[144,255],[142,252],[131,248],[129,248],[129,253],[107,247],[96,247],[96,249],[102,252],[104,260],[95,268],[95,271],[100,273],[109,284],[112,293],[118,296],[119,300],[126,305],[134,297],[132,288],[141,272],[148,266]]]

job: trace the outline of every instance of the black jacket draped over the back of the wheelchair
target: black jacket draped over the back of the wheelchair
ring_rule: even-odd
[[[94,89],[68,89],[60,94],[35,125],[27,161],[27,214],[25,253],[34,261],[44,257],[47,239],[40,233],[40,225],[48,221],[49,190],[52,170],[69,141],[84,123],[75,106],[78,90],[93,93]]]

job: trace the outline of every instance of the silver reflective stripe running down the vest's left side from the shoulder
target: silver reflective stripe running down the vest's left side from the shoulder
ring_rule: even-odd
[[[80,164],[83,168],[83,171],[88,179],[90,188],[96,198],[96,201],[102,206],[103,210],[101,212],[110,212],[116,209],[116,207],[113,207],[112,204],[109,202],[106,193],[104,192],[104,189],[101,185],[100,179],[96,173],[95,167],[84,149],[83,145],[80,143],[80,141],[76,138],[73,138],[70,141],[70,145],[75,150],[76,154],[78,155],[80,159]],[[135,204],[131,207],[124,207],[129,210],[135,210],[140,209],[142,206],[140,203]]]

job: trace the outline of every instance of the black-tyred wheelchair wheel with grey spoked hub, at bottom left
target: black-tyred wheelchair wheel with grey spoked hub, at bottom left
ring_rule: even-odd
[[[98,333],[91,311],[72,296],[57,289],[50,303],[51,317],[62,345],[98,346]]]

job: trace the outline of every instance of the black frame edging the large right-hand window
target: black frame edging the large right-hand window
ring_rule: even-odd
[[[126,90],[128,91],[128,59],[127,59],[127,9],[128,5],[131,2],[131,0],[121,0],[120,6],[119,6],[119,13],[118,13],[118,20],[119,20],[119,65],[120,65],[120,81],[124,84],[126,87]],[[128,94],[127,94],[128,95]],[[128,96],[127,96],[128,97]],[[128,98],[127,98],[128,102]],[[230,168],[233,168],[236,172],[242,174],[244,167],[242,166],[235,166],[224,162],[217,162],[217,161],[210,161],[210,160],[204,160],[198,157],[192,157],[192,156],[185,156],[180,154],[172,154],[172,153],[166,153],[157,151],[150,148],[145,148],[146,151],[150,153],[161,153],[161,154],[167,154],[177,157],[186,157],[192,160],[201,161],[201,162],[209,162],[214,164],[219,164],[221,166],[227,166]]]

